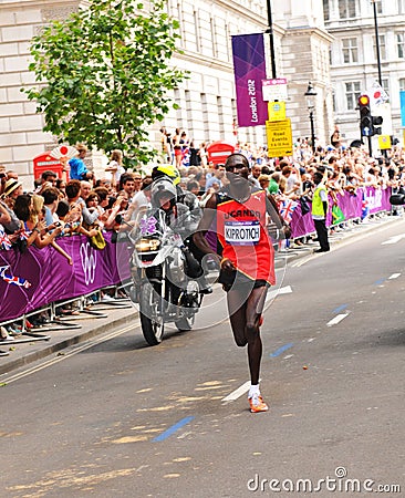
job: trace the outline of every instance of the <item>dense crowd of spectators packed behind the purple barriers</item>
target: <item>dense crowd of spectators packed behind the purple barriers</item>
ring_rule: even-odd
[[[185,131],[177,128],[173,136],[165,128],[160,133],[163,162],[177,167],[180,187],[193,193],[202,207],[226,185],[224,165],[209,162],[207,143],[197,146]],[[96,240],[105,230],[117,232],[117,215],[129,220],[148,203],[146,187],[152,177],[142,168],[126,170],[121,151],[112,153],[104,175],[96,178],[84,160],[87,148],[80,144],[76,149],[77,155],[65,163],[63,178],[45,170],[31,191],[23,190],[15,172],[0,166],[0,250],[23,252],[31,246],[51,246],[72,264],[71,256],[58,243],[61,237],[83,235]],[[237,143],[236,152],[249,159],[250,180],[279,206],[285,200],[310,199],[316,172],[323,175],[332,204],[338,194],[356,196],[360,187],[398,189],[405,183],[405,149],[399,145],[377,158],[370,157],[364,147],[345,146],[341,141],[316,144],[313,151],[305,138],[297,141],[291,157],[268,157],[266,147],[249,143]],[[2,326],[0,340],[19,333],[14,324]]]

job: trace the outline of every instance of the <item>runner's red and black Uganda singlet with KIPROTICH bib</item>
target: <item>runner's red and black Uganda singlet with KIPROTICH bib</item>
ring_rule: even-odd
[[[252,191],[243,204],[217,195],[217,235],[222,257],[252,280],[276,283],[274,249],[267,231],[266,191]]]

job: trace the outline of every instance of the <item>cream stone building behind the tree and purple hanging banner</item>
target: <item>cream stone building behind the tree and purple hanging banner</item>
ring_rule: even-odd
[[[307,6],[307,3],[311,6]],[[305,3],[305,7],[303,6]],[[32,37],[51,19],[63,19],[85,1],[0,0],[0,164],[15,169],[25,184],[32,183],[32,158],[55,145],[42,132],[43,116],[21,87],[34,84],[28,71]],[[272,0],[274,51],[278,77],[287,77],[287,115],[293,135],[310,134],[304,92],[311,81],[316,90],[315,131],[324,142],[332,127],[332,94],[329,48],[332,38],[324,29],[321,0]],[[310,7],[310,8],[308,8]],[[173,63],[190,72],[174,92],[179,105],[164,124],[184,128],[196,143],[235,141],[236,96],[231,35],[266,32],[268,12],[262,0],[167,0],[167,11],[180,22],[183,54]],[[269,52],[269,37],[264,35]],[[270,63],[268,73],[271,76]],[[158,144],[160,123],[150,131]],[[266,145],[263,126],[239,128],[237,138]]]

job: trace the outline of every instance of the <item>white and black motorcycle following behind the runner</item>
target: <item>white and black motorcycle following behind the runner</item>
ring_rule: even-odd
[[[162,209],[139,211],[129,238],[134,245],[129,297],[138,304],[146,342],[157,345],[166,323],[175,323],[179,331],[191,330],[202,295],[198,281],[189,277],[185,237],[167,225]]]

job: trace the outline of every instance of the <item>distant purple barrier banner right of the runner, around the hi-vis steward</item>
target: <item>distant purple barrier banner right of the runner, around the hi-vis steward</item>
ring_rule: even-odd
[[[374,187],[363,187],[357,188],[356,195],[349,194],[344,195],[338,194],[338,206],[342,209],[344,218],[346,220],[354,218],[363,218],[366,215],[374,215],[380,211],[390,211],[391,188],[374,188]],[[329,197],[330,208],[332,208],[332,198]],[[326,225],[332,224],[331,211],[328,215]],[[292,215],[291,220],[291,238],[303,237],[308,234],[313,234],[315,227],[311,217],[311,212],[302,216],[300,204],[298,204],[297,209]]]

